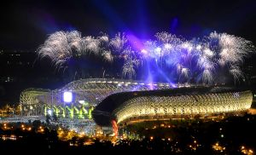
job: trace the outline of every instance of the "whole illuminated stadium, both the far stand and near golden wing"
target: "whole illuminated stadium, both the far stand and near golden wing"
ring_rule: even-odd
[[[126,124],[245,112],[252,100],[247,89],[104,78],[81,79],[53,91],[26,89],[20,95],[23,115],[94,118],[101,126],[112,120]]]

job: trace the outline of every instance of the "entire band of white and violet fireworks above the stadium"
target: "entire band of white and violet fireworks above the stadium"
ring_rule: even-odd
[[[168,32],[156,33],[155,37],[156,40],[148,40],[143,43],[143,49],[138,49],[125,33],[109,38],[107,34],[82,37],[77,31],[55,32],[39,47],[38,55],[49,57],[55,66],[90,54],[110,62],[123,59],[123,76],[130,79],[136,77],[136,71],[144,70],[143,64],[147,62],[161,67],[166,74],[175,72],[178,82],[211,84],[221,71],[228,71],[235,82],[242,78],[243,60],[255,51],[250,41],[226,33],[212,32],[203,39],[192,40]]]

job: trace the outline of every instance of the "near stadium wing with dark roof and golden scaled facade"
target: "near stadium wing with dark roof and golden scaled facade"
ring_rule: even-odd
[[[111,114],[95,116],[96,123],[107,125],[184,118],[212,118],[222,114],[246,112],[253,100],[251,91],[223,87],[174,88],[110,95],[96,111]],[[102,121],[104,120],[104,121]]]

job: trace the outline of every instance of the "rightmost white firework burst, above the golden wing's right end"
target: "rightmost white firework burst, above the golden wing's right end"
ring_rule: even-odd
[[[244,38],[226,33],[212,32],[207,40],[214,43],[212,61],[218,63],[220,68],[230,68],[230,74],[234,80],[242,78],[241,64],[248,55],[255,51],[253,43]]]

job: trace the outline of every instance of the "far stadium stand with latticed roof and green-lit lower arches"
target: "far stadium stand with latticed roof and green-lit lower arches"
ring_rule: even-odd
[[[91,112],[108,95],[150,89],[171,89],[172,83],[143,83],[122,79],[88,78],[68,83],[61,89],[26,89],[20,95],[23,115],[54,113],[60,118],[91,118]],[[64,100],[70,92],[73,99]]]

